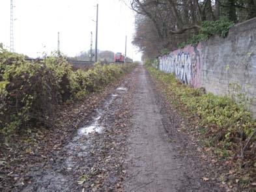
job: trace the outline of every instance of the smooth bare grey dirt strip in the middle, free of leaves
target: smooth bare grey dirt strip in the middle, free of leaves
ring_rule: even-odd
[[[128,152],[132,166],[126,191],[177,191],[180,165],[168,143],[160,106],[144,68],[140,69],[136,89]]]

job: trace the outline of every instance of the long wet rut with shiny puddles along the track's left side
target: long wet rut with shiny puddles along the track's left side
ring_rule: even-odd
[[[117,91],[119,90],[119,91]],[[68,186],[70,185],[70,178],[64,175],[61,171],[74,172],[80,171],[80,163],[84,158],[90,156],[89,147],[91,143],[90,137],[93,133],[104,133],[104,130],[107,129],[107,126],[104,126],[106,119],[106,114],[114,113],[111,103],[115,100],[121,100],[121,94],[124,94],[125,87],[119,87],[115,92],[110,94],[106,101],[98,107],[94,113],[95,115],[89,121],[89,124],[79,128],[76,135],[73,137],[72,141],[68,142],[63,148],[63,152],[66,154],[64,159],[57,159],[63,161],[63,163],[56,165],[54,170],[42,169],[39,172],[31,171],[31,175],[35,178],[35,184],[29,185],[25,188],[24,191],[33,191],[31,187],[42,187],[42,191],[51,191],[51,189],[57,189],[57,191],[70,191]],[[91,133],[91,134],[90,134]],[[81,168],[83,169],[83,168]],[[66,173],[65,173],[66,174]],[[48,185],[49,187],[44,189],[44,186]],[[59,188],[55,188],[55,185]]]

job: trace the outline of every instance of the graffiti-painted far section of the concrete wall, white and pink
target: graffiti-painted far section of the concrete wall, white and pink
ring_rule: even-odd
[[[201,44],[177,49],[159,58],[159,69],[176,75],[182,83],[201,86]]]

